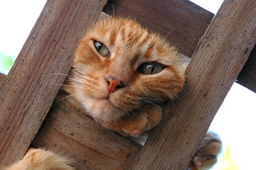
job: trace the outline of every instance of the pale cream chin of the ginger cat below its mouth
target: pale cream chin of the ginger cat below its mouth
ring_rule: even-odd
[[[126,114],[126,111],[115,106],[109,98],[87,98],[83,104],[89,115],[96,119],[112,121]]]

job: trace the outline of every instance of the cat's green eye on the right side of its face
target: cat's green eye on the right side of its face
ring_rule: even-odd
[[[157,74],[165,67],[158,62],[145,62],[138,68],[138,72],[142,74]]]

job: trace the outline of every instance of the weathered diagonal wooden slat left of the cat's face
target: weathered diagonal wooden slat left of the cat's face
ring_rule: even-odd
[[[106,1],[48,1],[0,87],[0,164],[21,159],[72,64],[84,28]],[[15,148],[15,149],[14,149]]]

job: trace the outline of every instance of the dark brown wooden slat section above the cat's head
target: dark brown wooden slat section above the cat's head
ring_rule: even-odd
[[[114,16],[135,18],[145,28],[162,36],[191,57],[213,13],[188,0],[110,0],[104,12]]]

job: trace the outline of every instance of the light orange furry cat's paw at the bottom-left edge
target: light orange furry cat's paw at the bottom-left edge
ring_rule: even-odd
[[[74,170],[69,166],[69,160],[65,157],[44,149],[29,149],[25,157],[20,162],[13,164],[7,170]]]

